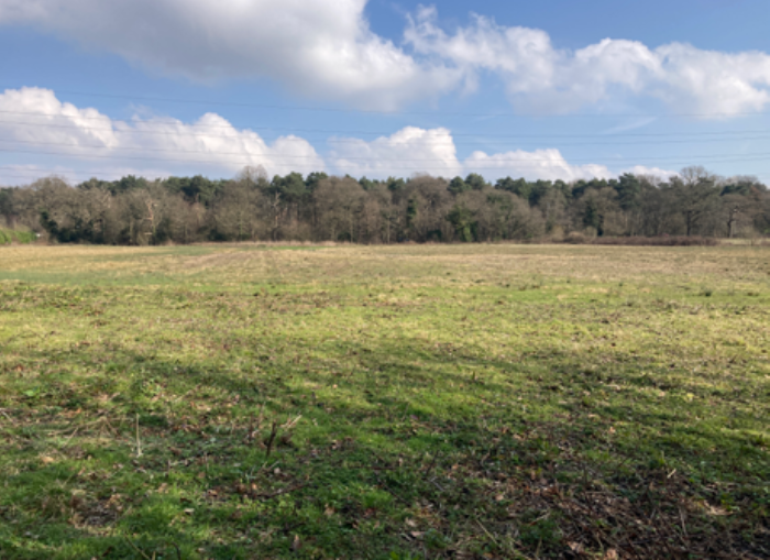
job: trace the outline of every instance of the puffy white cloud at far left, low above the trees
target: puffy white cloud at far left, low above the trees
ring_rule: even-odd
[[[144,169],[148,176],[163,169],[231,175],[245,165],[262,165],[270,173],[309,173],[324,168],[316,150],[297,136],[273,143],[257,133],[235,129],[215,113],[196,122],[154,117],[114,121],[96,109],[61,102],[47,89],[23,88],[0,95],[0,146],[22,152],[55,153],[112,168]],[[152,172],[152,173],[151,173]]]

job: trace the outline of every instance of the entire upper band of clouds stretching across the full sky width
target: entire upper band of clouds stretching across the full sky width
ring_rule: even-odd
[[[404,44],[375,34],[367,0],[2,0],[0,24],[31,25],[163,75],[275,79],[309,97],[394,110],[480,75],[502,78],[519,111],[564,113],[648,97],[678,111],[735,116],[770,102],[770,55],[605,39],[556,48],[542,30],[472,14],[441,29],[435,8],[409,18]]]

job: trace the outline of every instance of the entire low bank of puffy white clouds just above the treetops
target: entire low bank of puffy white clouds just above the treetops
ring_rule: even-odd
[[[228,177],[246,165],[262,165],[271,175],[326,169],[370,178],[479,173],[488,180],[507,175],[575,180],[616,175],[604,165],[571,164],[556,149],[476,151],[461,161],[452,133],[444,128],[406,127],[372,141],[331,138],[329,146],[324,160],[305,139],[283,136],[268,143],[215,113],[193,123],[163,117],[119,121],[96,109],[63,103],[47,89],[0,94],[0,151],[23,153],[31,161],[19,163],[16,158],[12,165],[0,166],[4,184],[29,183],[51,174],[73,183],[95,175],[105,179],[197,173]],[[662,178],[674,175],[654,167],[625,171]]]

